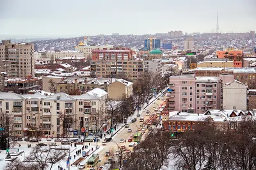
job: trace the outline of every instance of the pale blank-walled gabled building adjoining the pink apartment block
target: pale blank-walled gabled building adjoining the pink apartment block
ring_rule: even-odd
[[[246,110],[247,86],[233,80],[223,85],[223,110]]]

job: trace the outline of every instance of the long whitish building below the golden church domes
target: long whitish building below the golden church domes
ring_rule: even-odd
[[[84,53],[84,57],[86,58],[86,60],[87,60],[87,57],[92,57],[92,50],[103,50],[103,49],[109,50],[112,48],[114,48],[113,45],[96,45],[96,46],[88,45],[86,37],[84,37],[84,43],[81,41],[79,45],[76,46],[77,51]]]

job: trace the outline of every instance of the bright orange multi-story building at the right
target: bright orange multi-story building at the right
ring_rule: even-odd
[[[233,61],[233,67],[243,66],[243,51],[242,50],[230,50],[230,51],[217,51],[216,55],[218,58],[225,58]]]

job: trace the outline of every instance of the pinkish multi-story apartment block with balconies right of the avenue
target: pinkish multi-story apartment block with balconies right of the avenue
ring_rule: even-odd
[[[204,113],[220,109],[221,81],[216,77],[195,77],[191,74],[170,77],[169,111]]]

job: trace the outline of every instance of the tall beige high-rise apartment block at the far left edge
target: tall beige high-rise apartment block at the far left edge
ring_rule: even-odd
[[[1,60],[11,60],[11,74],[15,78],[34,77],[34,44],[11,43],[3,40],[0,43]]]

